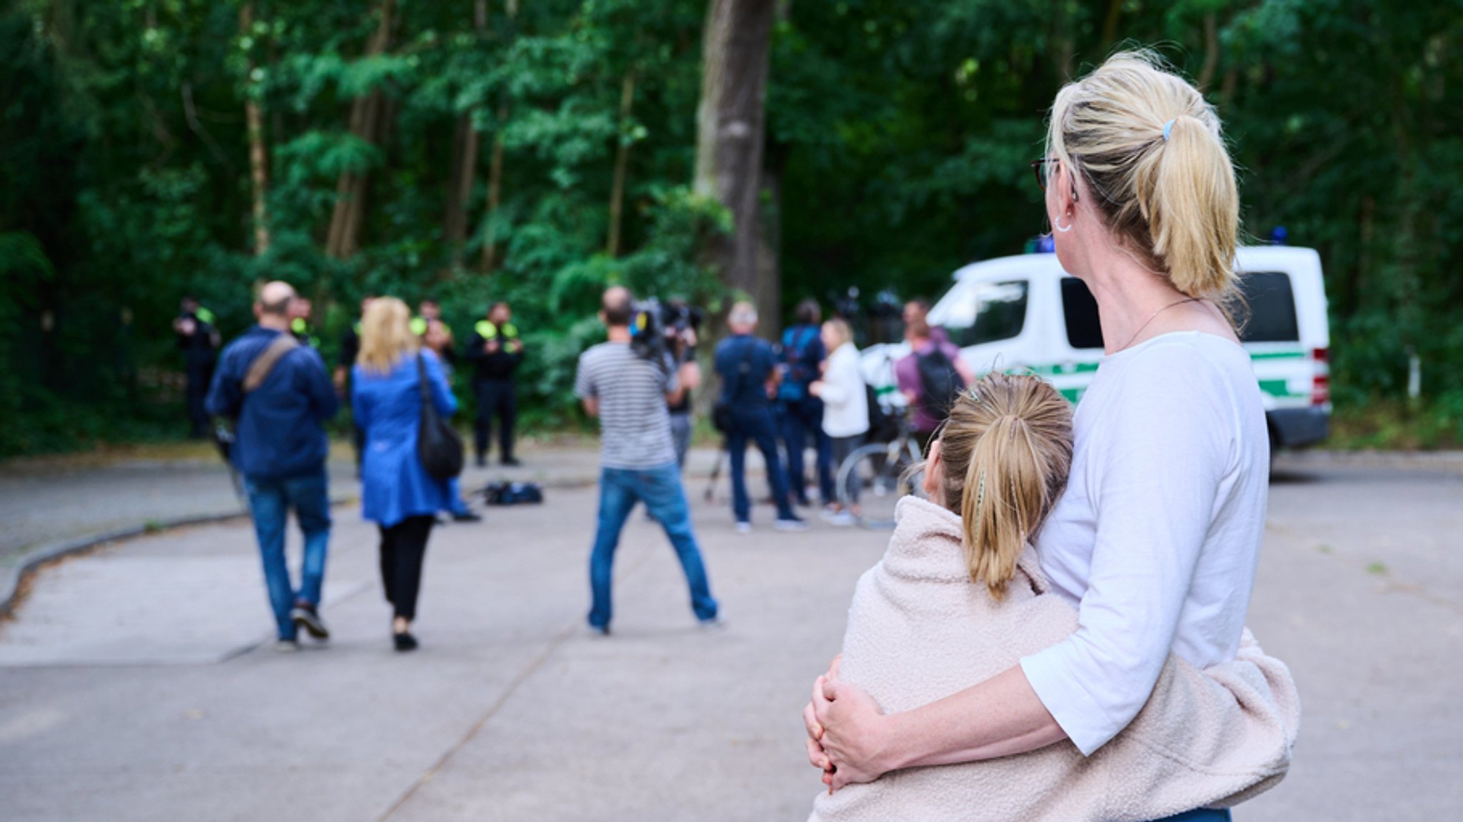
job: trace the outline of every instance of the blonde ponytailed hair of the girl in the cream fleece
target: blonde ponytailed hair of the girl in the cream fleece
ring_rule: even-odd
[[[990,373],[957,396],[939,434],[945,508],[960,513],[971,582],[1005,597],[1027,540],[1072,467],[1072,410],[1034,376]]]

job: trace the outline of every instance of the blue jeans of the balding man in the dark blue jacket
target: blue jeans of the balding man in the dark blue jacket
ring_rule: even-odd
[[[317,606],[325,581],[325,553],[331,543],[331,496],[325,468],[285,480],[246,477],[244,490],[255,516],[259,554],[265,563],[265,585],[269,588],[269,606],[275,613],[279,639],[294,639],[290,608],[297,601]],[[291,508],[304,532],[298,591],[290,585],[290,568],[284,562],[284,527]]]

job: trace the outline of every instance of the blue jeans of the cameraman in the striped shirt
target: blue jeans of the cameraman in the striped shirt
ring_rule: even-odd
[[[686,491],[680,487],[680,468],[667,462],[658,468],[600,470],[600,527],[594,534],[594,550],[590,553],[590,591],[594,604],[590,607],[590,625],[610,625],[610,579],[614,569],[614,548],[620,544],[620,529],[629,518],[635,502],[645,503],[645,510],[660,522],[676,548],[680,569],[686,572],[691,587],[691,610],[696,619],[708,620],[717,616],[717,601],[711,598],[707,582],[707,568],[701,562],[696,535],[691,531],[691,508]]]

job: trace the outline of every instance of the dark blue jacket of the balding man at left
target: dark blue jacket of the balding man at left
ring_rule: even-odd
[[[255,326],[228,344],[214,372],[206,408],[238,420],[234,467],[253,480],[281,480],[325,470],[331,446],[320,429],[339,410],[320,354],[301,345],[275,363],[265,382],[244,396],[255,357],[281,332]]]

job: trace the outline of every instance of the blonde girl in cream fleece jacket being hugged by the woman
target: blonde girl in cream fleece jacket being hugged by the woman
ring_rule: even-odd
[[[989,374],[963,393],[930,445],[929,502],[900,502],[888,553],[859,581],[835,676],[884,712],[910,711],[1069,635],[1077,613],[1048,592],[1028,540],[1071,459],[1071,410],[1050,385]],[[1062,742],[894,771],[821,794],[812,819],[1137,822],[1232,804],[1280,781],[1298,721],[1289,671],[1246,638],[1208,671],[1170,658],[1148,705],[1090,758]]]

